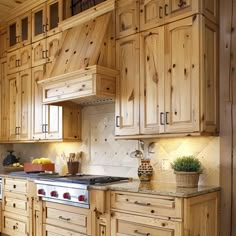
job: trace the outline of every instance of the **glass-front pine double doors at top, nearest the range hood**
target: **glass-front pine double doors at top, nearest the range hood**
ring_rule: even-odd
[[[32,10],[32,41],[43,39],[59,31],[62,21],[62,0],[49,0]]]

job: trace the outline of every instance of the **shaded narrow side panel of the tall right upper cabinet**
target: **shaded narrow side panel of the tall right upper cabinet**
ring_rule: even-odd
[[[203,24],[202,58],[202,131],[218,132],[219,125],[219,84],[218,84],[218,28],[206,18]]]

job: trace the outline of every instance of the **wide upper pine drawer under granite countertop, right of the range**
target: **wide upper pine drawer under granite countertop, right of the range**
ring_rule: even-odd
[[[183,200],[174,197],[112,192],[111,207],[149,216],[183,217]]]

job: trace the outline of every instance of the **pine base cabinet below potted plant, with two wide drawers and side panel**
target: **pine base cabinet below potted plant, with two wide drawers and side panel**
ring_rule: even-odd
[[[219,192],[189,198],[111,192],[111,235],[218,236]]]

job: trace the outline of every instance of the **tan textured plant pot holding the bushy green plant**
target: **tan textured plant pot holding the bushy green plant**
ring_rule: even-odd
[[[181,188],[196,188],[201,172],[175,171],[176,186]]]

